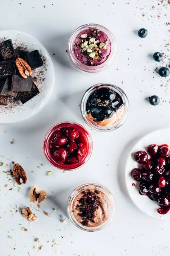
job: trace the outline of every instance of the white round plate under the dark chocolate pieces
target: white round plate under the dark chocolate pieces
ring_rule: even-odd
[[[26,51],[31,52],[38,50],[42,56],[44,65],[35,70],[33,77],[38,77],[35,84],[40,93],[25,104],[10,106],[0,106],[0,123],[14,123],[34,116],[38,113],[48,101],[54,86],[54,67],[50,55],[43,45],[33,36],[17,31],[17,30],[2,30],[0,31],[0,41],[11,39],[14,49],[18,46],[26,47]],[[42,71],[42,72],[41,72]]]

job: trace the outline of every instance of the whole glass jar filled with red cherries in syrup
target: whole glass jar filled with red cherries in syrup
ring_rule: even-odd
[[[43,151],[47,160],[56,168],[71,171],[82,167],[93,150],[89,132],[74,122],[54,125],[45,135]]]

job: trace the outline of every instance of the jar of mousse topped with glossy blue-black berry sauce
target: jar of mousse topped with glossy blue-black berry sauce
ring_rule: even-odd
[[[124,124],[129,100],[116,85],[101,83],[85,92],[80,108],[83,119],[91,128],[112,131]]]

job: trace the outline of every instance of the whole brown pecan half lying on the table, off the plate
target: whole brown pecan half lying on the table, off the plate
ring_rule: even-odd
[[[26,172],[24,171],[23,167],[20,166],[19,163],[14,164],[13,174],[14,174],[14,179],[18,185],[21,185],[23,183],[26,184],[27,182]]]

